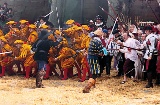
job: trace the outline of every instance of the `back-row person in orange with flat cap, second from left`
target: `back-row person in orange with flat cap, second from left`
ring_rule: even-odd
[[[20,39],[23,41],[27,41],[28,35],[29,35],[29,30],[28,30],[28,26],[29,23],[27,20],[20,20]]]

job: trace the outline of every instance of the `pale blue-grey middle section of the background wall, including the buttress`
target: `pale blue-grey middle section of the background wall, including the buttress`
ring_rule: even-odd
[[[52,0],[51,11],[49,20],[57,27],[56,7],[60,24],[63,25],[68,19],[74,19],[79,23],[88,23],[90,19],[95,19],[96,15],[102,15],[104,20],[107,21],[108,16],[99,8],[103,7],[108,11],[108,3],[106,0]]]

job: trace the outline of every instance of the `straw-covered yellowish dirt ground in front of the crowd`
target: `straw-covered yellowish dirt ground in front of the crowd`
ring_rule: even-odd
[[[105,74],[97,79],[96,88],[82,93],[85,82],[77,77],[60,80],[51,77],[43,80],[45,88],[34,88],[35,78],[4,76],[0,78],[0,105],[160,105],[160,86],[146,89],[146,81],[133,82],[128,79],[120,84],[121,78]]]

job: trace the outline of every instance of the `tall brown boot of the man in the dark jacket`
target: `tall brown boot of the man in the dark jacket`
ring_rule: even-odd
[[[38,73],[36,75],[36,87],[37,88],[44,88],[44,86],[42,84],[42,80],[43,80],[43,76],[45,74],[46,74],[46,72],[44,70],[38,71]]]

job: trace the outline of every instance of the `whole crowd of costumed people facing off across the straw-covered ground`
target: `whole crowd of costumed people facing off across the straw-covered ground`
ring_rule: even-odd
[[[146,88],[153,87],[154,78],[160,85],[160,24],[127,27],[116,21],[113,27],[107,28],[100,15],[89,25],[70,19],[65,30],[54,29],[47,23],[50,22],[44,17],[35,24],[29,24],[27,20],[6,23],[10,31],[6,35],[0,31],[0,77],[5,71],[9,75],[23,74],[27,79],[36,76],[36,87],[41,88],[42,80],[53,73],[62,80],[75,76],[75,68],[79,82],[89,78],[83,89],[88,93],[102,73],[110,75],[114,59],[117,76],[124,77],[121,84],[130,77],[135,82],[147,79]],[[14,65],[17,71],[13,69]]]

